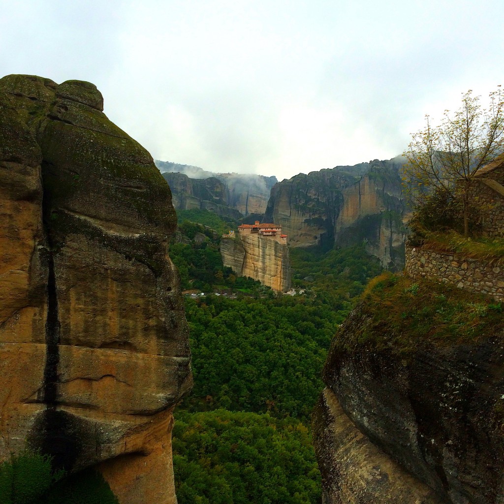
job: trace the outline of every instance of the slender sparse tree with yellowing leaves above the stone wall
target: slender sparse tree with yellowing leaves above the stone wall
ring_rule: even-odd
[[[469,216],[476,206],[474,177],[483,166],[504,151],[504,98],[500,86],[489,95],[488,108],[472,91],[462,95],[462,106],[454,113],[445,110],[440,125],[434,127],[425,116],[423,130],[412,134],[404,152],[406,191],[417,205],[433,197],[461,203],[464,236],[469,236]]]

